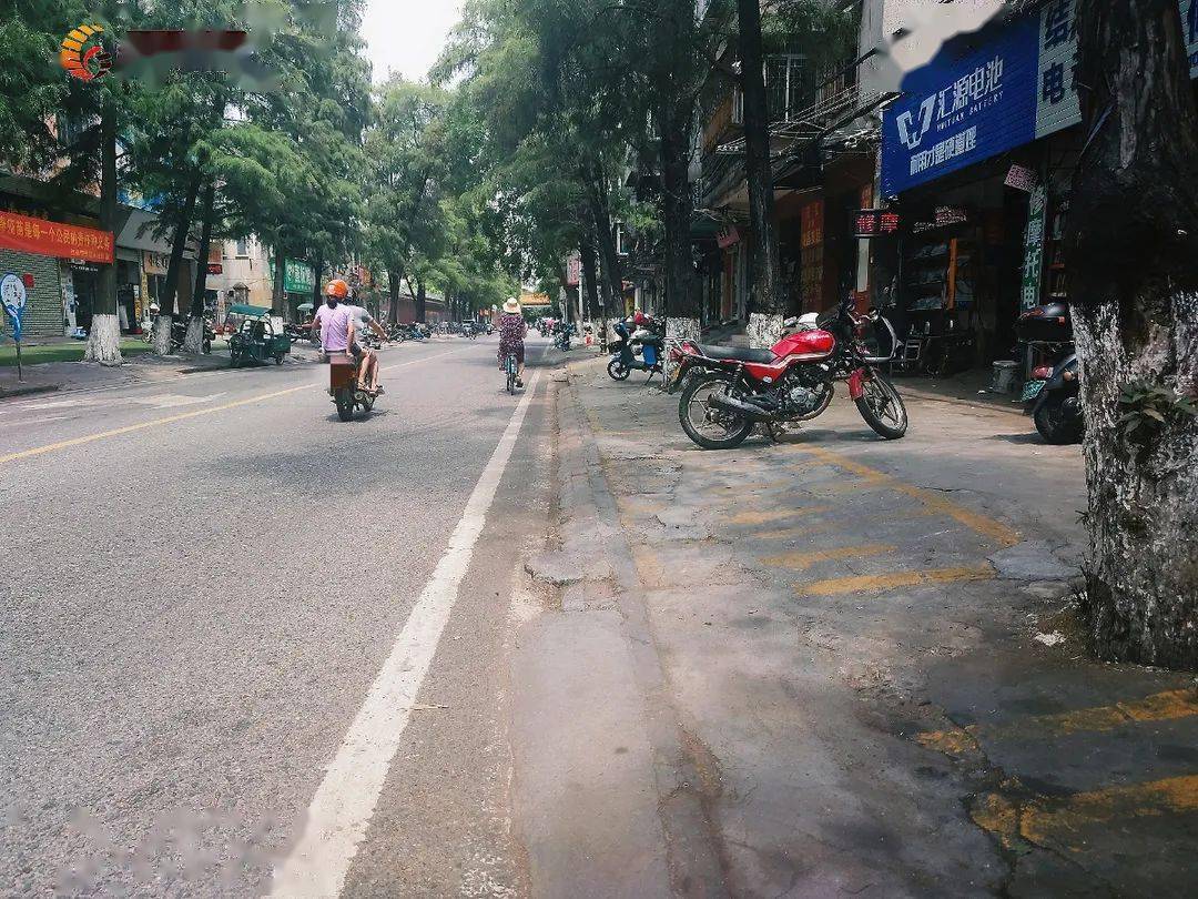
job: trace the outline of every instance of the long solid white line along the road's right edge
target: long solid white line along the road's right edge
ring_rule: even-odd
[[[508,422],[498,446],[474,485],[449,547],[417,599],[350,725],[337,756],[308,806],[303,833],[286,859],[274,869],[271,895],[285,899],[340,895],[345,875],[365,838],[391,762],[399,749],[412,704],[436,654],[441,634],[458,599],[525,414],[540,373]]]

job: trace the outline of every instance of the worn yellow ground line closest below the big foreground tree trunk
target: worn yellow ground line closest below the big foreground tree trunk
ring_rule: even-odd
[[[1168,722],[1191,716],[1198,716],[1198,690],[1180,689],[1111,706],[1029,716],[1006,724],[970,724],[967,728],[927,731],[915,740],[928,749],[962,755],[976,749],[981,740],[1043,740],[1069,734],[1101,734],[1125,724]]]

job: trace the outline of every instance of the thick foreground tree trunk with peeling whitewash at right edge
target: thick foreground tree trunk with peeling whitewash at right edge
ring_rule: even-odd
[[[1066,234],[1100,657],[1198,669],[1198,113],[1176,0],[1082,0]],[[1129,386],[1140,399],[1121,398]],[[1146,404],[1143,388],[1166,391]],[[1152,415],[1148,415],[1151,411]],[[1144,427],[1129,434],[1126,426]]]

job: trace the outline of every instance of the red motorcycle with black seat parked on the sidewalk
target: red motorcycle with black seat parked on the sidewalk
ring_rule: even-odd
[[[788,333],[768,350],[689,340],[673,350],[673,384],[684,385],[678,420],[686,436],[704,450],[731,450],[764,424],[776,439],[782,426],[823,415],[837,380],[848,381],[849,396],[877,434],[897,440],[907,433],[907,406],[876,369],[898,346],[885,318],[876,310],[857,315],[848,297],[816,327],[794,330],[797,324],[787,321]],[[878,330],[890,340],[890,356],[866,346],[869,332]]]

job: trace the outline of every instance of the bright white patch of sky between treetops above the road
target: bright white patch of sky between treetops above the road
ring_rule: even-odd
[[[461,0],[369,0],[362,34],[377,84],[387,72],[420,80],[458,23]]]

